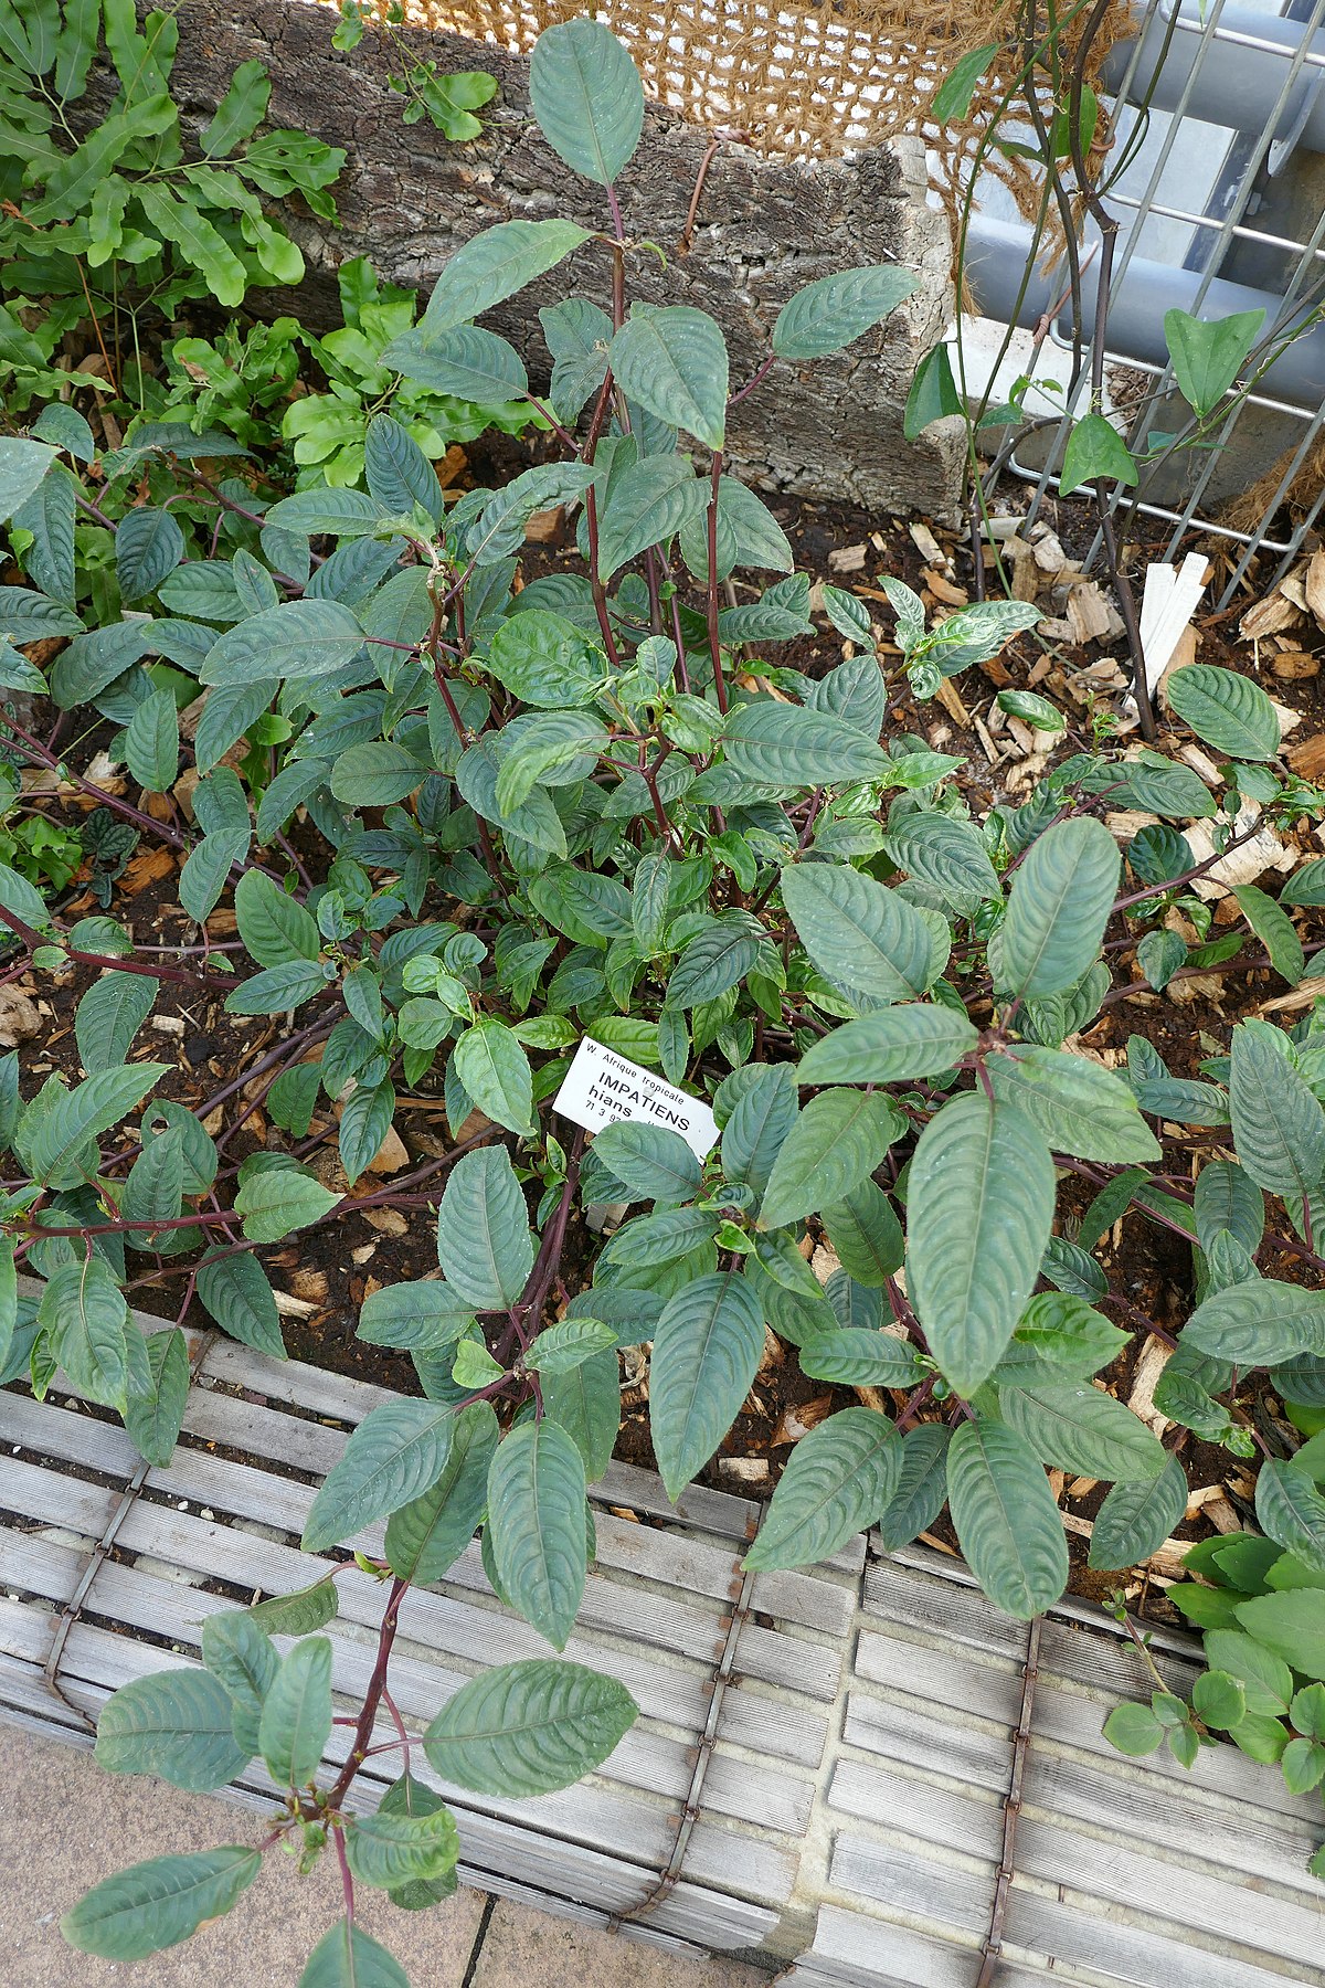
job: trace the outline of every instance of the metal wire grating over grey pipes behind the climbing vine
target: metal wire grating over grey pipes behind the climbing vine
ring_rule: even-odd
[[[1134,493],[1114,495],[1114,511],[1168,525],[1158,559],[1174,559],[1192,529],[1238,545],[1218,602],[1226,606],[1257,553],[1277,557],[1279,579],[1325,509],[1325,0],[1287,0],[1281,12],[1246,0],[1146,0],[1106,82],[1114,157],[1126,159],[1106,193],[1120,225],[1106,360],[1146,382],[1112,396],[1128,441],[1144,445],[1156,427],[1182,431],[1186,404],[1162,330],[1170,304],[1202,318],[1263,308],[1257,352],[1285,346],[1214,447],[1142,471]],[[1063,417],[1043,417],[1033,447],[1023,439],[1007,457],[1031,483],[1033,521],[1057,489],[1069,419],[1089,406],[1089,264],[1099,237],[1083,237],[1085,298],[1073,322],[1059,296],[1063,270],[1037,268],[1031,231],[999,215],[997,195],[993,207],[983,187],[977,197],[985,205],[969,219],[967,250],[981,310],[999,328],[1043,332],[1047,318],[1041,356],[1065,360]],[[1255,517],[1246,515],[1248,491]],[[1091,557],[1099,551],[1097,539]]]

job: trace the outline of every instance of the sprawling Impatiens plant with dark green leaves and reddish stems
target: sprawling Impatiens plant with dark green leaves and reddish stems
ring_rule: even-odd
[[[626,52],[588,22],[554,28],[532,97],[548,143],[604,189],[610,294],[574,288],[598,237],[566,221],[475,237],[421,320],[401,310],[371,348],[373,398],[405,382],[395,412],[346,382],[362,475],[350,455],[292,487],[234,419],[139,421],[97,451],[70,402],[0,437],[16,561],[0,586],[16,823],[2,972],[54,988],[97,974],[77,1002],[79,1079],[20,1083],[18,1052],[0,1062],[4,1380],[44,1394],[64,1370],[165,1461],[195,1300],[280,1356],[258,1250],[364,1207],[435,1221],[441,1274],[383,1284],[358,1318],[366,1346],[409,1354],[419,1394],[356,1429],[304,1535],[332,1555],[387,1525],[368,1563],[379,1656],[346,1767],[318,1785],[334,1571],[215,1618],[207,1668],[117,1692],[97,1741],[113,1771],[185,1787],[264,1759],[286,1791],[264,1849],[326,1851],[346,1881],[308,1988],[401,1978],[354,1920],[356,1885],[421,1905],[453,1881],[455,1825],[407,1763],[379,1817],[346,1807],[369,1743],[407,1753],[403,1728],[373,1732],[393,1720],[405,1592],[481,1527],[497,1596],[566,1646],[624,1352],[648,1348],[671,1497],[723,1443],[769,1336],[809,1380],[858,1390],[791,1449],[753,1569],[814,1563],[862,1527],[900,1547],[946,1511],[991,1600],[1033,1616],[1069,1574],[1051,1473],[1112,1485],[1091,1567],[1126,1571],[1184,1521],[1194,1441],[1265,1455],[1277,1491],[1255,1509],[1275,1553],[1325,1553],[1307,1465],[1271,1455],[1244,1406],[1250,1374],[1299,1415],[1325,1402],[1325,1016],[1303,944],[1325,859],[1277,899],[1234,887],[1230,924],[1198,891],[1265,827],[1321,819],[1281,755],[1277,706],[1250,674],[1192,664],[1168,702],[1204,775],[1114,749],[1101,726],[1029,799],[973,807],[963,757],[896,708],[989,664],[1039,610],[987,600],[930,620],[884,575],[884,644],[856,592],[812,598],[777,517],[723,461],[733,402],[868,336],[912,278],[810,282],[733,382],[703,312],[630,306],[632,258],[654,248],[626,237],[614,189],[644,119]],[[552,374],[536,396],[526,358],[477,320],[558,266],[568,294],[542,312]],[[397,417],[415,392],[526,408],[558,453],[447,499]],[[526,527],[552,509],[576,547],[516,584]],[[779,664],[816,616],[840,660]],[[999,708],[1067,732],[1035,690],[1005,688]],[[93,740],[95,771],[127,767],[137,803],[95,777]],[[62,916],[74,851],[24,841],[24,773],[93,803],[77,855],[95,912]],[[1104,817],[1128,811],[1146,819],[1120,847]],[[1178,823],[1206,829],[1210,853]],[[197,932],[169,950],[113,914],[119,873],[153,843],[171,871],[183,857]],[[1144,1034],[1116,1068],[1083,1042],[1136,990],[1240,958],[1299,990],[1291,1026],[1238,1020],[1196,1076]],[[270,1022],[270,1050],[199,1109],[161,1095],[169,1068],[141,1056],[169,994]],[[707,1099],[711,1151],[644,1121],[588,1141],[558,1115],[584,1036]],[[449,1143],[375,1187],[419,1089]],[[238,1121],[213,1121],[238,1091]],[[258,1109],[268,1135],[234,1157]],[[604,1205],[624,1221],[572,1258],[580,1211]],[[1190,1244],[1184,1318],[1110,1288],[1101,1246],[1128,1213]],[[129,1296],[163,1286],[177,1324],[147,1336]],[[1095,1384],[1138,1334],[1172,1348],[1154,1390],[1168,1443]],[[296,1640],[278,1656],[272,1636]],[[600,1765],[632,1718],[618,1684],[548,1658],[473,1680],[417,1743],[451,1783],[530,1795]],[[1226,1726],[1238,1740],[1242,1718]],[[135,1867],[66,1932],[141,1958],[228,1908],[258,1863],[226,1849]]]

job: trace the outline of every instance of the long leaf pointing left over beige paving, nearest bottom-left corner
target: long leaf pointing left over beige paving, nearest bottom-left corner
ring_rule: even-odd
[[[260,1869],[260,1851],[238,1843],[193,1857],[149,1857],[93,1885],[60,1930],[81,1954],[147,1960],[228,1912]]]

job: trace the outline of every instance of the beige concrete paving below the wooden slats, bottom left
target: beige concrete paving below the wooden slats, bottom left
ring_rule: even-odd
[[[296,1988],[340,1912],[324,1857],[310,1877],[272,1853],[236,1908],[183,1946],[135,1964],[91,1960],[60,1936],[60,1914],[143,1857],[256,1843],[262,1817],[163,1781],[103,1773],[89,1753],[0,1724],[0,1988]],[[395,1954],[411,1988],[767,1988],[733,1960],[689,1960],[459,1891],[429,1912],[381,1893],[360,1924]]]

